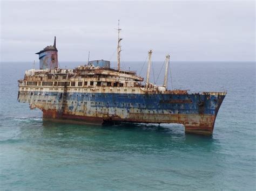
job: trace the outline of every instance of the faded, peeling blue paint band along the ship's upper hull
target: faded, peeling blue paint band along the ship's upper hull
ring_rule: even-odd
[[[33,91],[38,95],[38,91]],[[43,98],[42,98],[43,97]],[[170,114],[216,115],[225,95],[201,94],[111,94],[111,93],[66,93],[69,111],[90,102],[95,108],[147,109],[156,112],[168,110]],[[63,101],[63,93],[45,92],[42,99]],[[35,100],[37,102],[37,100]]]

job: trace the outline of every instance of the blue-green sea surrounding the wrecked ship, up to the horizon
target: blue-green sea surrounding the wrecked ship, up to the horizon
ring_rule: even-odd
[[[145,62],[121,65],[145,76]],[[163,84],[162,66],[153,62],[151,82]],[[169,89],[227,91],[212,136],[180,124],[43,121],[17,101],[33,67],[1,62],[0,190],[256,190],[255,62],[170,62]]]

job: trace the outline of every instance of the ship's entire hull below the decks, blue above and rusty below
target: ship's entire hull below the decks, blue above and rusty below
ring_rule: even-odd
[[[179,123],[187,133],[212,135],[224,93],[111,94],[22,92],[20,102],[43,111],[44,119],[105,124]],[[46,95],[46,96],[45,96]],[[54,102],[55,104],[52,104]]]

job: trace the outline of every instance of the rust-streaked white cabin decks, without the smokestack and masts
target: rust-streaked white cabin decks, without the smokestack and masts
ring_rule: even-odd
[[[19,86],[143,87],[143,81],[143,77],[133,71],[85,65],[75,69],[27,70]]]

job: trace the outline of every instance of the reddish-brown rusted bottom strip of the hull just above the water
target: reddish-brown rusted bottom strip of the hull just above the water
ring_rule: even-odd
[[[165,121],[155,120],[139,120],[143,118],[143,114],[136,114],[138,118],[121,119],[119,117],[104,118],[104,117],[86,117],[76,116],[70,114],[61,114],[55,110],[43,111],[43,119],[52,120],[58,122],[58,119],[64,119],[65,122],[75,124],[115,124],[118,122],[129,122],[129,123],[177,123],[185,126],[186,133],[194,133],[199,135],[212,135],[214,129],[214,122],[216,116],[214,115],[182,115],[172,114],[169,115],[169,119]],[[157,117],[156,117],[157,118]],[[59,121],[63,122],[63,121]]]

